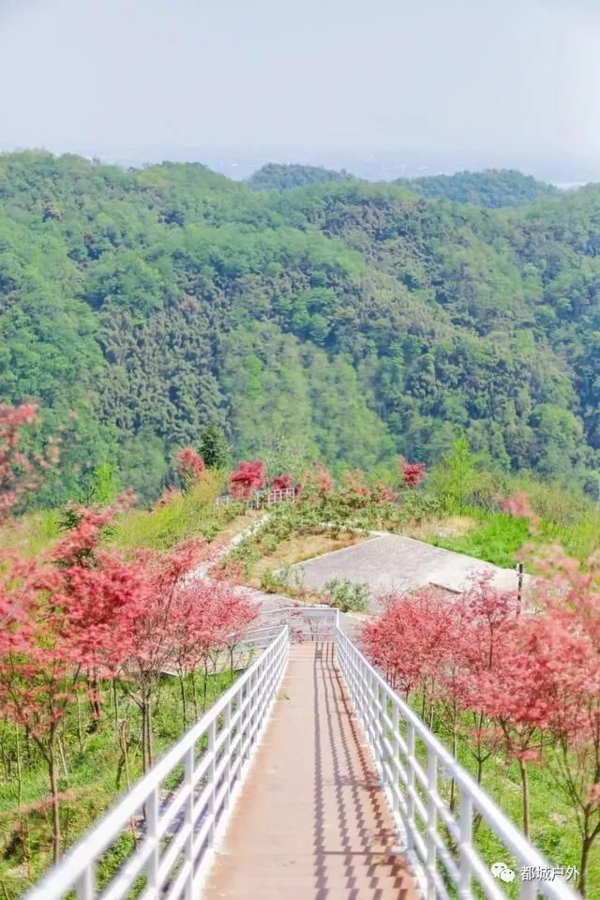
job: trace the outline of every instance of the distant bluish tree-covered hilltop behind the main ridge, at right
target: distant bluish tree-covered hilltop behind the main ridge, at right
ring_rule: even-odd
[[[445,197],[453,203],[471,203],[491,209],[525,206],[540,197],[557,197],[560,194],[559,188],[537,181],[532,175],[522,175],[521,172],[510,169],[399,178],[395,184],[405,185],[423,197]]]

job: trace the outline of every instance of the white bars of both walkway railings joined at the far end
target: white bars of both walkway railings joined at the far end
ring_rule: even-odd
[[[151,871],[146,869],[146,866],[149,865],[148,860],[152,853],[158,853],[158,842],[167,833],[170,827],[169,823],[172,823],[173,816],[176,814],[176,810],[173,812],[173,809],[176,807],[177,810],[183,810],[184,801],[185,809],[188,812],[186,812],[184,826],[181,831],[177,832],[173,843],[176,844],[180,840],[180,847],[183,847],[185,842],[186,863],[182,874],[173,877],[176,878],[177,883],[181,879],[188,879],[185,883],[196,887],[199,875],[197,867],[194,868],[194,866],[196,862],[198,865],[204,865],[208,859],[207,850],[214,841],[215,827],[225,826],[229,815],[228,801],[231,790],[232,788],[235,791],[239,790],[245,777],[244,760],[247,761],[250,758],[256,735],[260,734],[268,718],[268,711],[274,701],[277,685],[283,677],[287,647],[294,638],[291,620],[296,615],[302,616],[309,626],[311,618],[317,622],[323,619],[330,620],[332,627],[326,640],[335,641],[341,674],[358,720],[364,729],[377,769],[382,776],[398,834],[401,839],[406,837],[408,861],[414,866],[421,881],[423,897],[427,897],[428,900],[432,900],[434,897],[449,897],[440,876],[439,866],[441,863],[450,880],[456,884],[461,900],[468,900],[473,896],[470,888],[471,879],[477,881],[486,896],[493,900],[505,898],[506,895],[501,890],[501,885],[494,883],[486,864],[475,849],[472,833],[473,809],[481,814],[496,838],[502,842],[521,866],[546,870],[553,868],[543,854],[529,842],[475,779],[458,763],[444,744],[419,719],[406,701],[386,682],[382,674],[369,662],[354,641],[344,633],[340,627],[340,616],[337,610],[326,606],[294,606],[277,609],[273,613],[286,616],[287,621],[257,629],[263,633],[265,631],[276,632],[276,636],[264,648],[258,659],[217,699],[214,705],[202,715],[175,746],[146,775],[140,778],[115,806],[105,813],[98,824],[75,844],[62,861],[26,894],[25,900],[58,900],[70,890],[77,892],[78,900],[92,900],[93,897],[96,897],[93,882],[96,864],[116,838],[125,832],[134,817],[140,815],[141,810],[146,808],[153,811],[150,814],[150,825],[147,826],[141,844],[142,848],[148,847],[148,852],[144,854],[142,850],[140,854],[140,851],[136,849],[131,857],[131,870],[125,871],[118,886],[114,890],[109,888],[107,894],[113,900],[128,896],[127,890],[133,883],[132,878],[137,877],[141,872],[149,873]],[[249,639],[251,640],[251,638]],[[235,712],[234,704],[237,704]],[[391,718],[390,707],[392,709]],[[219,721],[220,731],[218,731]],[[406,725],[406,741],[401,736],[401,721]],[[415,738],[418,738],[426,748],[426,773],[415,753]],[[196,768],[194,753],[198,742],[205,739],[208,740],[208,747]],[[233,763],[230,759],[230,748],[234,758]],[[399,751],[406,757],[404,772],[399,762]],[[225,754],[225,756],[219,756],[219,753]],[[158,806],[162,785],[167,776],[172,774],[182,763],[185,764],[184,781],[177,788],[177,792],[171,800],[171,806],[161,817]],[[459,792],[460,815],[458,819],[460,821],[457,820],[453,809],[447,806],[438,792],[438,767],[443,768],[446,777],[453,780]],[[422,781],[426,809],[416,792],[418,782],[415,780],[415,774],[420,779],[426,778],[425,781]],[[207,806],[208,800],[205,799],[203,805],[201,798],[198,798],[196,807],[194,805],[196,801],[193,799],[194,785],[198,785],[199,779],[203,778],[208,780],[202,796],[204,797],[206,791],[209,791],[212,800]],[[219,781],[219,778],[224,781]],[[405,787],[404,800],[399,799],[401,782]],[[202,783],[204,784],[204,782]],[[217,796],[221,798],[219,802],[224,802],[223,796],[227,798],[227,802],[218,806],[215,799]],[[188,798],[187,801],[186,798]],[[426,820],[423,818],[423,812],[419,813],[419,804],[426,812]],[[168,814],[169,809],[172,812],[171,816]],[[223,812],[219,818],[221,810]],[[423,835],[417,825],[416,813],[420,814],[426,825]],[[207,834],[211,836],[207,844],[203,843],[205,837],[202,838],[202,841],[200,837],[196,837],[195,831],[195,828],[200,827],[199,823],[202,821],[198,816],[204,816],[204,814],[207,818],[202,822],[201,836]],[[439,825],[448,829],[450,838],[453,835],[455,837],[456,843],[452,853],[456,851],[458,862],[449,852],[448,844],[444,842],[439,833],[438,817]],[[154,822],[154,826],[152,826],[152,822]],[[154,830],[152,830],[153,827]],[[165,855],[168,852],[167,850]],[[180,850],[180,852],[183,851]],[[176,858],[176,855],[173,855],[173,860]],[[147,894],[148,897],[158,897],[159,893],[156,891],[164,888],[165,884],[169,884],[168,881],[165,882],[165,879],[171,877],[173,860],[166,872],[163,872],[161,864],[160,874],[156,874],[158,868],[155,867],[153,876],[155,880],[148,882],[151,893],[144,892],[144,897]],[[127,867],[127,861],[124,865]],[[135,871],[132,876],[133,869]],[[121,878],[121,872],[122,870],[119,870],[115,876],[116,879]],[[150,878],[150,875],[148,877]],[[181,883],[183,884],[183,881]],[[154,893],[152,893],[153,888],[155,889]],[[538,879],[522,883],[521,898],[523,900],[534,900],[538,893],[549,900],[579,900],[579,895],[562,879],[554,881]]]

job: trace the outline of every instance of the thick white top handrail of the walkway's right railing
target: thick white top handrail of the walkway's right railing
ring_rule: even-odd
[[[553,866],[550,865],[543,854],[540,853],[539,850],[536,850],[533,844],[531,844],[517,826],[510,821],[492,798],[477,784],[475,779],[463,769],[456,759],[454,759],[441,741],[436,738],[426,725],[424,725],[408,704],[402,700],[392,687],[390,687],[380,672],[377,671],[358,649],[356,644],[344,634],[339,625],[337,625],[336,645],[344,645],[344,643],[352,648],[353,653],[360,659],[361,665],[369,673],[377,687],[383,692],[383,695],[397,706],[405,721],[414,729],[415,735],[422,740],[428,751],[433,751],[436,760],[444,766],[448,775],[454,780],[457,787],[467,795],[473,806],[476,807],[487,824],[490,825],[495,835],[505,844],[510,852],[514,854],[521,866],[533,867],[535,869],[553,869]],[[536,888],[536,891],[537,890],[538,888]],[[573,891],[564,881],[546,881],[543,884],[543,888],[540,885],[539,890],[543,891],[544,895],[551,898],[551,900],[579,900],[579,894]],[[536,896],[537,892],[531,894],[531,897]]]

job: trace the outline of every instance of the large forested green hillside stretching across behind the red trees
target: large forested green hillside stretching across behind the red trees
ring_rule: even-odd
[[[488,210],[405,187],[257,191],[203,166],[0,157],[0,399],[61,434],[58,502],[116,462],[151,499],[216,420],[234,456],[384,474],[457,435],[600,468],[600,188]]]

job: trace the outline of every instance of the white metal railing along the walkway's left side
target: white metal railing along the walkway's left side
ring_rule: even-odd
[[[224,830],[246,777],[277,696],[288,650],[289,633],[284,626],[254,665],[26,900],[191,898],[210,864],[215,836]],[[136,835],[133,852],[112,878],[104,877],[104,854],[128,833]],[[101,891],[98,875],[108,881]]]

